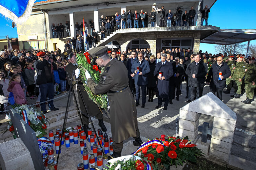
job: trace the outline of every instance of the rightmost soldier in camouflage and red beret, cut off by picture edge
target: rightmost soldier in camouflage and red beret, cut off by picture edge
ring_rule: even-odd
[[[245,104],[251,104],[254,96],[255,82],[256,82],[256,63],[255,58],[252,57],[249,59],[249,64],[247,69],[245,69],[244,83],[245,83],[245,92],[246,100],[241,101]]]

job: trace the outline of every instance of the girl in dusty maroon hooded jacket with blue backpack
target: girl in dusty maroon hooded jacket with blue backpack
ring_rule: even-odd
[[[27,104],[27,101],[25,99],[25,95],[23,93],[23,89],[20,85],[21,82],[21,76],[19,74],[14,74],[9,81],[9,87],[7,91],[13,92],[15,104]]]

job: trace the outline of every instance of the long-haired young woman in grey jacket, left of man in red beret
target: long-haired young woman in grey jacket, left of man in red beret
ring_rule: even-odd
[[[32,67],[31,62],[25,63],[24,72],[28,79],[28,85],[27,85],[28,94],[30,96],[30,99],[34,99],[34,97],[37,97],[35,95],[35,84],[34,84],[35,69]]]

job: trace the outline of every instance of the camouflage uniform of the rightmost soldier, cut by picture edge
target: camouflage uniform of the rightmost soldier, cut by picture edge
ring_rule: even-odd
[[[252,85],[252,81],[256,82],[256,63],[248,64],[247,72],[245,72],[244,83],[246,97],[253,99],[254,89],[256,85]]]

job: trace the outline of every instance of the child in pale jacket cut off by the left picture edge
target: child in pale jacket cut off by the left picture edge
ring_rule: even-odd
[[[8,110],[8,96],[9,92],[7,91],[9,84],[9,79],[5,77],[4,70],[0,70],[0,104],[1,104],[1,111]],[[9,115],[5,114],[5,119],[9,120]]]

